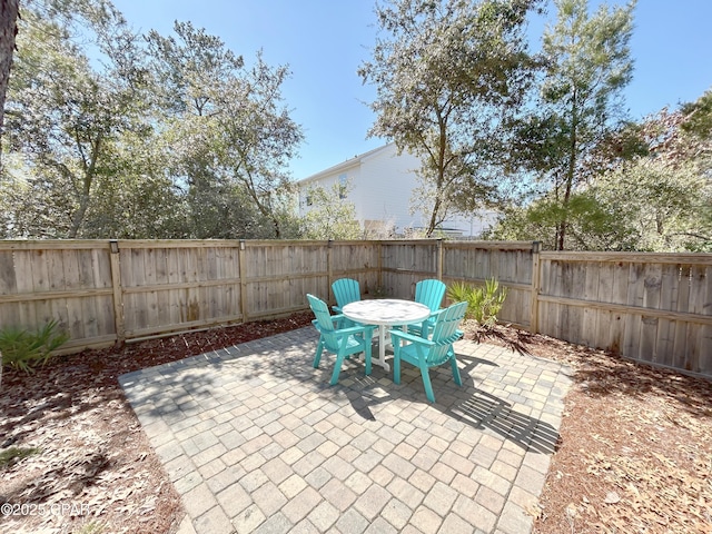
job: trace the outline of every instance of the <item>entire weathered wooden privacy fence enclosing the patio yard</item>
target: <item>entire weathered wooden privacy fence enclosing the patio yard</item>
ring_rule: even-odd
[[[66,352],[307,309],[356,278],[412,298],[439,278],[508,296],[532,332],[712,377],[712,255],[546,253],[536,243],[382,240],[0,241],[0,327],[58,320]]]

